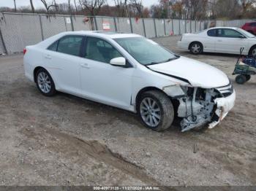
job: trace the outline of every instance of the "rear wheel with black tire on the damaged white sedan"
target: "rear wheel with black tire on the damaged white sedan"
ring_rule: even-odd
[[[45,77],[44,81],[41,80],[42,77]],[[42,93],[42,95],[53,96],[56,94],[55,84],[47,70],[39,69],[36,74],[35,82],[37,84],[38,90],[40,91],[40,93]],[[50,85],[50,87],[49,87],[49,85]],[[43,88],[43,86],[45,88]]]

